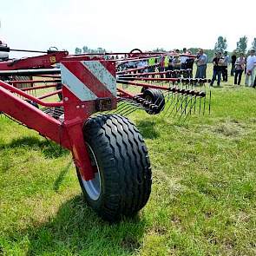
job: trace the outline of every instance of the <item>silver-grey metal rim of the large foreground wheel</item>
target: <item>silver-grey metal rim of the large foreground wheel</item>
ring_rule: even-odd
[[[90,181],[85,181],[82,178],[82,185],[91,200],[98,200],[102,190],[101,173],[100,173],[100,169],[99,169],[94,151],[92,150],[92,148],[89,146],[88,143],[86,144],[89,151],[89,158],[91,161],[91,165],[95,170],[95,178]]]

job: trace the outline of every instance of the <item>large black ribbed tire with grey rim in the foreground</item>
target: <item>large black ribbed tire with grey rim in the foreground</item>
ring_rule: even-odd
[[[83,127],[95,178],[77,175],[89,206],[110,222],[134,216],[148,201],[148,149],[135,125],[121,115],[96,115]]]

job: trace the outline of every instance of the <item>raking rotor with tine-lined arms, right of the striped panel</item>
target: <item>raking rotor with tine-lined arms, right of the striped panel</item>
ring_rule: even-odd
[[[155,59],[167,56],[155,56]],[[129,58],[128,62],[138,62],[138,60],[148,60],[152,56],[140,56],[140,58]],[[175,54],[168,54],[175,56]],[[187,55],[190,58],[195,56]],[[121,60],[119,64],[123,64]],[[122,88],[117,88],[120,92],[121,104],[115,113],[129,115],[136,109],[144,108],[148,114],[159,114],[162,116],[173,117],[179,115],[179,120],[186,121],[187,116],[198,112],[210,113],[211,90],[207,89],[206,84],[210,79],[192,78],[192,69],[174,69],[159,71],[160,62],[154,63],[151,70],[148,65],[140,68],[122,69],[117,72],[117,82]],[[128,87],[137,88],[137,93],[128,92]],[[141,89],[138,89],[141,88]],[[208,91],[208,94],[207,94]],[[129,108],[123,102],[127,101]],[[136,103],[136,104],[135,104]],[[138,105],[139,104],[139,105]]]

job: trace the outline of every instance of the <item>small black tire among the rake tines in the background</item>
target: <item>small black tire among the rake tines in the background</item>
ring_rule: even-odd
[[[164,106],[165,106],[165,97],[160,89],[141,89],[141,92],[143,93],[143,98],[149,102],[154,103],[154,105],[158,106],[154,111],[148,110],[147,113],[154,115],[159,114]]]

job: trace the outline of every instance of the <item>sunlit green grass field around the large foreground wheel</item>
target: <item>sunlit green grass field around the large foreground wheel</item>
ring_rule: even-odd
[[[211,115],[185,125],[130,116],[153,190],[112,226],[84,203],[68,151],[0,117],[0,255],[256,255],[256,90],[229,77],[212,92]]]

